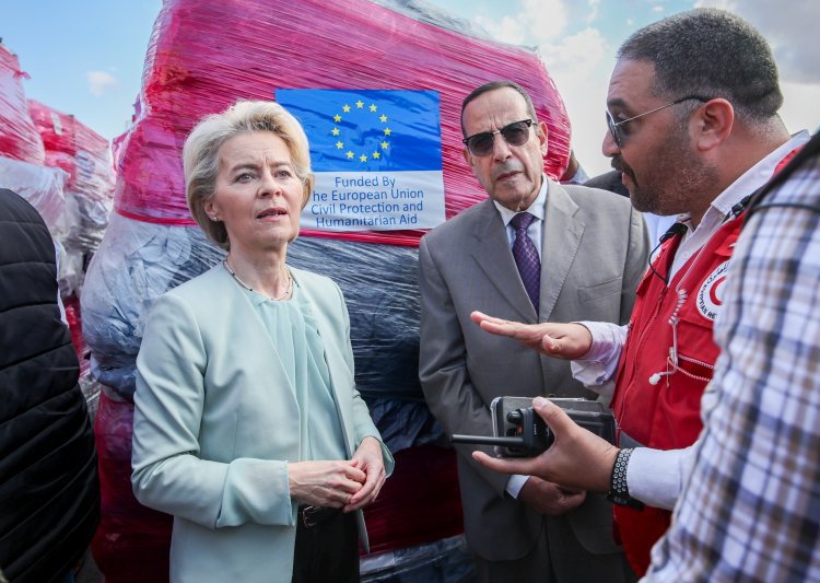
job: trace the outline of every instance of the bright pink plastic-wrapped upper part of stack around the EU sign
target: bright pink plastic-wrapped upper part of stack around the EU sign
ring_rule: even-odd
[[[192,125],[237,98],[273,98],[283,88],[435,90],[446,215],[483,197],[461,158],[461,100],[478,85],[524,85],[549,127],[544,170],[569,159],[563,102],[535,53],[420,22],[366,0],[168,0],[143,72],[141,115],[122,144],[115,209],[191,224],[180,148]],[[309,234],[303,232],[303,235]],[[345,240],[417,244],[422,232],[345,233]]]

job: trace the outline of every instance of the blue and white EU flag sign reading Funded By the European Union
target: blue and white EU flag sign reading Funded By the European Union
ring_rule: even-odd
[[[432,229],[444,222],[437,91],[280,89],[304,126],[316,187],[302,226]]]

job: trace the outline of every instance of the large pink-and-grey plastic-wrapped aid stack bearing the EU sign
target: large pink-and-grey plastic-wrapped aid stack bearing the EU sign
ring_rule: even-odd
[[[358,387],[396,455],[396,474],[365,513],[375,555],[363,576],[467,576],[455,455],[418,382],[418,244],[485,197],[462,159],[459,113],[470,91],[497,79],[532,95],[549,127],[544,171],[560,176],[570,127],[543,65],[435,9],[165,1],[136,121],[117,140],[115,212],[82,298],[92,374],[105,386],[96,420],[103,524],[93,548],[106,581],[167,578],[171,521],[130,490],[134,362],[155,299],[223,257],[190,218],[180,153],[198,119],[238,98],[276,100],[305,127],[317,182],[288,259],[344,292]]]

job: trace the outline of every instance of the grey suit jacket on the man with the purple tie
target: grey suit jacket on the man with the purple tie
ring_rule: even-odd
[[[595,398],[572,378],[569,362],[484,333],[470,313],[480,310],[527,323],[625,324],[647,265],[643,217],[611,193],[550,182],[542,245],[537,318],[491,200],[422,238],[419,375],[446,433],[491,434],[489,405],[500,395]],[[468,544],[487,560],[519,558],[535,545],[541,515],[505,494],[508,476],[475,463],[470,453],[476,448],[456,447]],[[589,552],[618,550],[611,508],[601,497],[589,495],[569,520]]]

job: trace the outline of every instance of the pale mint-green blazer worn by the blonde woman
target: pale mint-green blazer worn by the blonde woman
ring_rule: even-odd
[[[352,456],[380,435],[355,389],[344,299],[328,278],[291,272],[312,303]],[[137,370],[131,481],[141,503],[174,515],[171,580],[290,582],[298,404],[263,323],[221,265],[155,302]],[[356,518],[367,548],[361,511]]]

